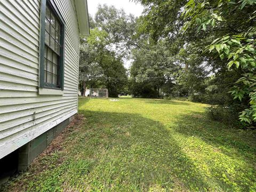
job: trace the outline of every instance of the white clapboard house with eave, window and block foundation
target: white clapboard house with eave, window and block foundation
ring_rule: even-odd
[[[0,174],[26,169],[77,113],[79,34],[86,0],[0,0]]]

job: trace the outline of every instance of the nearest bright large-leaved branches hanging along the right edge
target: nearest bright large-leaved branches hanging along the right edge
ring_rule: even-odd
[[[228,69],[241,69],[239,72],[241,75],[230,93],[234,99],[238,98],[240,101],[249,98],[247,100],[249,108],[244,109],[239,116],[242,122],[249,125],[256,123],[254,110],[256,100],[252,97],[256,91],[255,8],[256,2],[247,0],[238,2],[190,0],[183,12],[183,17],[188,20],[183,26],[185,31],[194,29],[195,26],[197,33],[199,30],[206,31],[207,27],[208,30],[230,29],[226,33],[214,34],[215,40],[209,45],[209,50],[217,52],[220,59],[227,62]]]

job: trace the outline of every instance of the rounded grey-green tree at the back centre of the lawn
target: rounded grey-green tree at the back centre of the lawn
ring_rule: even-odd
[[[132,81],[131,93],[135,97],[157,98],[161,95],[161,89],[170,85],[173,71],[179,66],[172,62],[167,42],[158,44],[146,43],[147,38],[141,39],[140,48],[132,50],[132,66],[130,68]]]

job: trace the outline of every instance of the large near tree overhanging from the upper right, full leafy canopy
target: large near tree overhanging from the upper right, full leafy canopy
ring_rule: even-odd
[[[255,123],[256,2],[253,0],[138,0],[137,2],[147,7],[142,19],[141,31],[146,31],[154,42],[168,39],[173,43],[176,39],[183,39],[182,49],[187,50],[187,47],[190,47],[193,54],[204,58],[203,65],[209,69],[206,72],[212,74],[209,79],[202,78],[202,84],[206,83],[209,86],[206,87],[205,92],[213,91],[217,94],[221,91],[223,95],[227,95],[222,105],[227,106],[234,103],[229,99],[231,95],[234,99],[238,98],[239,101],[235,103],[237,105],[240,103],[242,107],[241,121],[247,124]],[[190,53],[187,58],[191,58]],[[199,65],[202,65],[202,62],[195,63],[194,66],[198,68]],[[193,72],[190,69],[188,68],[187,74]],[[230,92],[227,93],[228,91]]]

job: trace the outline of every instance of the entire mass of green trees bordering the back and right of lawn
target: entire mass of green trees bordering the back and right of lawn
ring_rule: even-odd
[[[81,38],[80,81],[112,95],[186,97],[218,105],[244,125],[255,125],[256,2],[135,2],[145,6],[140,18],[99,5],[90,18],[91,35]]]

